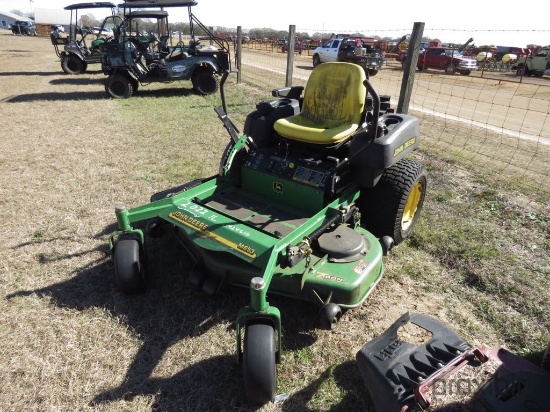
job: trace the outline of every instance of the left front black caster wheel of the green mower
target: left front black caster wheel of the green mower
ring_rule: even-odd
[[[113,261],[118,289],[127,295],[142,292],[145,288],[145,268],[138,241],[119,240],[115,245]]]

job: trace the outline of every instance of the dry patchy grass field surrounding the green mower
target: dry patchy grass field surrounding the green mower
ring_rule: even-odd
[[[109,100],[100,72],[63,75],[47,39],[1,37],[4,410],[373,410],[355,354],[407,310],[472,345],[540,361],[550,341],[547,149],[491,132],[472,139],[468,126],[425,116],[414,157],[429,188],[414,235],[335,331],[315,328],[310,305],[270,296],[283,318],[277,393],[287,399],[248,405],[233,327],[248,291],[204,296],[186,280],[189,259],[158,239],[147,292],[123,296],[107,247],[114,204],[217,172],[229,141],[213,110],[219,96],[173,83]],[[249,76],[265,86],[227,87],[239,127],[271,98],[265,76]]]

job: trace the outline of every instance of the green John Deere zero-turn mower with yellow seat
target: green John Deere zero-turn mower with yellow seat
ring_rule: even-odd
[[[191,283],[207,294],[250,290],[236,317],[237,360],[254,403],[273,399],[282,357],[279,309],[268,293],[311,302],[332,329],[383,275],[383,255],[411,235],[426,194],[425,167],[407,158],[418,120],[396,114],[359,65],[316,67],[304,87],[273,90],[240,133],[215,108],[231,139],[219,173],[115,207],[109,238],[120,291],[146,286],[149,237],[172,232],[195,262]]]

